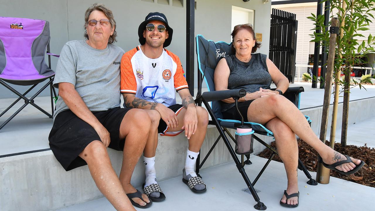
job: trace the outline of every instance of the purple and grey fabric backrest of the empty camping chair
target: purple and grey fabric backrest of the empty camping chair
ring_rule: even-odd
[[[44,59],[48,42],[48,21],[0,17],[0,78],[20,84],[54,75]]]

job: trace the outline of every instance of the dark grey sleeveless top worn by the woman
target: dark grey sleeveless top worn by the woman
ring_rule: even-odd
[[[256,92],[259,88],[270,89],[271,75],[267,68],[267,55],[251,54],[249,62],[242,62],[236,55],[224,57],[229,67],[228,89],[245,89],[246,92]],[[231,109],[234,103],[222,103],[222,112]]]

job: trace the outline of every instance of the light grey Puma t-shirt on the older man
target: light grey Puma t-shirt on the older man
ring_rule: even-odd
[[[90,109],[105,111],[120,107],[120,62],[124,50],[108,44],[104,50],[92,48],[86,41],[69,41],[57,62],[53,86],[69,82]],[[59,97],[55,116],[69,107]]]

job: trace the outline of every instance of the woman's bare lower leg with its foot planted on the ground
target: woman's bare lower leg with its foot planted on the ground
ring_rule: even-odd
[[[277,117],[268,121],[266,127],[275,136],[278,155],[283,161],[285,171],[287,172],[287,194],[298,193],[298,145],[296,134]],[[291,197],[287,201],[287,197],[283,195],[281,202],[296,205],[298,204],[298,197]]]

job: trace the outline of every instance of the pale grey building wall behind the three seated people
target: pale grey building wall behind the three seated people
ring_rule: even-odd
[[[84,39],[84,12],[94,2],[92,0],[0,0],[0,15],[49,21],[51,52],[59,54],[67,41]],[[168,50],[180,57],[185,69],[186,0],[105,0],[102,3],[113,11],[117,22],[116,45],[125,51],[139,44],[137,31],[144,17],[149,12],[163,12],[168,18],[169,25],[174,29],[173,40]],[[195,33],[214,41],[230,42],[232,5],[255,10],[255,30],[257,33],[263,33],[263,47],[259,52],[268,55],[271,2],[263,4],[261,0],[251,2],[196,0]],[[52,69],[55,69],[56,63],[57,58],[52,58]],[[196,72],[195,62],[195,75]],[[195,87],[197,87],[196,76]],[[18,88],[26,90],[26,87]],[[48,90],[42,95],[49,95]],[[0,87],[0,98],[12,97],[16,96],[6,88]]]

